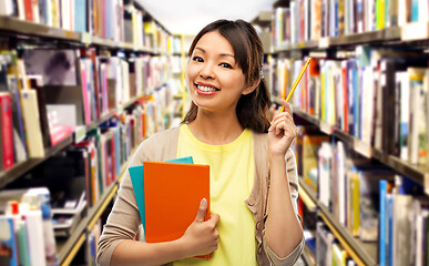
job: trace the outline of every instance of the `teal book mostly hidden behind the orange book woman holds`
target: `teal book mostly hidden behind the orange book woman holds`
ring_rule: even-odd
[[[187,156],[187,157],[173,158],[165,162],[193,164],[194,160],[192,158],[192,156]],[[137,202],[137,206],[139,206],[140,218],[142,219],[143,228],[146,228],[145,207],[144,207],[143,164],[129,167],[129,173],[131,177],[131,183],[133,184],[135,201]]]

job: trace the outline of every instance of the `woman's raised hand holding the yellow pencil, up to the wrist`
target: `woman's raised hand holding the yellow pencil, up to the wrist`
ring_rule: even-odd
[[[289,104],[283,99],[282,104],[285,106],[285,111],[273,116],[272,126],[268,129],[268,149],[272,157],[285,156],[292,142],[299,133],[294,123]]]

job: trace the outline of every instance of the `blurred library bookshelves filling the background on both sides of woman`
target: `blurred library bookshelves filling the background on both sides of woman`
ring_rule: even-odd
[[[194,34],[241,7],[254,9],[273,108],[311,58],[289,101],[296,265],[429,265],[428,1],[174,4],[0,1],[0,265],[95,265],[130,156],[191,104]]]

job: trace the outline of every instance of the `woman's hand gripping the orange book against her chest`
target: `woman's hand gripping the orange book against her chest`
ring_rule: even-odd
[[[208,221],[204,221],[206,211],[207,201],[203,198],[194,222],[181,238],[191,253],[190,257],[211,254],[217,249],[219,233],[216,226],[219,222],[219,215],[212,214]]]

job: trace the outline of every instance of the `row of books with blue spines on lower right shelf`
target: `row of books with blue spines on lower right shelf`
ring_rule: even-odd
[[[426,265],[429,205],[422,186],[361,158],[340,141],[309,132],[295,144],[298,171],[320,204],[353,236],[377,243],[380,265]]]

